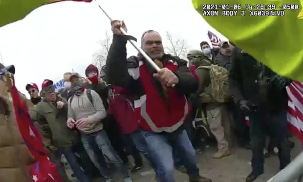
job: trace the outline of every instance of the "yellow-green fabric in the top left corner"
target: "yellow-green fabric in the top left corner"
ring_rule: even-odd
[[[0,0],[0,27],[24,18],[32,10],[55,0]]]

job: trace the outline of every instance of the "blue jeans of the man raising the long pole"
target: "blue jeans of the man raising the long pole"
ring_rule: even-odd
[[[199,177],[195,149],[185,130],[158,134],[142,131],[151,154],[155,156],[156,174],[160,182],[175,182],[173,179],[173,150],[177,150],[191,178]]]

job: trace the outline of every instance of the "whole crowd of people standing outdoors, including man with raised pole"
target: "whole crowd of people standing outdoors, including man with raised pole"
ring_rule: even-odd
[[[160,68],[156,71],[141,54],[127,58],[132,37],[120,31],[127,31],[124,22],[112,21],[111,26],[113,40],[101,70],[88,65],[85,77],[66,72],[59,92],[49,79],[41,91],[35,83],[26,85],[34,105],[29,114],[65,182],[70,180],[62,154],[80,182],[112,182],[107,160],[125,182],[132,182],[131,174],[143,167],[140,154],[156,181],[177,181],[177,169],[190,182],[212,182],[200,175],[196,152],[216,142],[213,158],[230,156],[234,133],[238,145],[252,151],[246,182],[264,172],[264,156],[274,154],[275,147],[280,169],[288,165],[294,144],[288,140],[285,87],[292,80],[226,41],[216,50],[203,41],[201,50],[189,51],[185,61],[166,54],[160,34],[148,30],[141,48]],[[270,142],[264,155],[266,136]]]

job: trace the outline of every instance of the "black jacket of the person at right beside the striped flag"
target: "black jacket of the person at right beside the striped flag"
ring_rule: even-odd
[[[230,90],[232,95],[235,96],[235,101],[249,100],[257,107],[267,106],[272,112],[285,110],[288,102],[286,89],[279,90],[275,83],[270,82],[270,78],[275,76],[276,73],[264,66],[264,75],[269,77],[266,93],[268,101],[266,103],[260,99],[259,74],[258,61],[251,55],[241,52],[238,47],[235,47],[229,74]]]

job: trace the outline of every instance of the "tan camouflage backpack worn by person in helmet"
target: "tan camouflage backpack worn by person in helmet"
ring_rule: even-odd
[[[206,90],[205,92],[209,93],[209,95],[211,95],[211,97],[215,99],[216,102],[219,103],[228,102],[230,100],[229,81],[228,81],[229,71],[226,68],[220,67],[218,65],[200,66],[197,69],[200,68],[207,68],[210,70],[211,84],[210,84],[210,88],[205,89]]]

